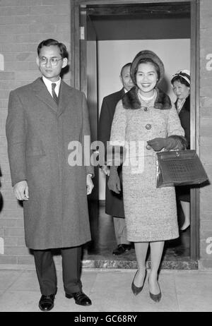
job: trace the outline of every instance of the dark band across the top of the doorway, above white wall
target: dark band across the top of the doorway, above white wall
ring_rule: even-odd
[[[97,40],[190,38],[189,2],[95,5],[83,10],[93,25]]]

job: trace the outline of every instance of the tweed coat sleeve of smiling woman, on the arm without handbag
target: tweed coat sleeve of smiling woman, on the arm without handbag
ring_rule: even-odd
[[[110,146],[107,148],[107,165],[120,165],[123,162],[123,149],[126,145],[126,111],[122,105],[122,100],[120,100],[112,120]],[[117,154],[121,153],[121,157],[117,155],[117,159],[114,155],[116,151]]]

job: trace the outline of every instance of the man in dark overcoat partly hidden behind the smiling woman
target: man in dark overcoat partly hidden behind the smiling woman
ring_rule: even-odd
[[[107,142],[110,141],[110,129],[112,126],[112,119],[117,103],[124,96],[125,92],[128,92],[134,83],[130,76],[131,64],[125,64],[120,73],[120,80],[122,82],[122,90],[107,95],[102,100],[102,107],[100,112],[99,123],[99,140],[104,143],[107,148]],[[108,215],[112,215],[114,222],[114,232],[117,241],[117,248],[113,250],[114,255],[120,255],[127,250],[131,249],[131,243],[126,239],[126,224],[124,220],[124,203],[122,190],[119,194],[110,191],[107,186],[108,178],[110,175],[110,168],[102,166],[102,171],[106,175],[105,185],[105,212]],[[122,182],[122,167],[119,167],[119,178]]]

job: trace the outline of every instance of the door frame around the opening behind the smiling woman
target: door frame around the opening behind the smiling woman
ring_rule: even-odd
[[[191,6],[191,50],[190,50],[190,69],[191,69],[191,149],[195,149],[199,155],[199,38],[200,25],[199,0],[71,0],[71,85],[78,90],[86,92],[85,83],[81,81],[81,49],[85,49],[85,41],[81,40],[80,11],[87,5],[100,4],[175,4],[179,2],[188,2]],[[85,68],[85,63],[82,64]],[[191,190],[191,240],[190,240],[190,258],[199,259],[199,188]]]

